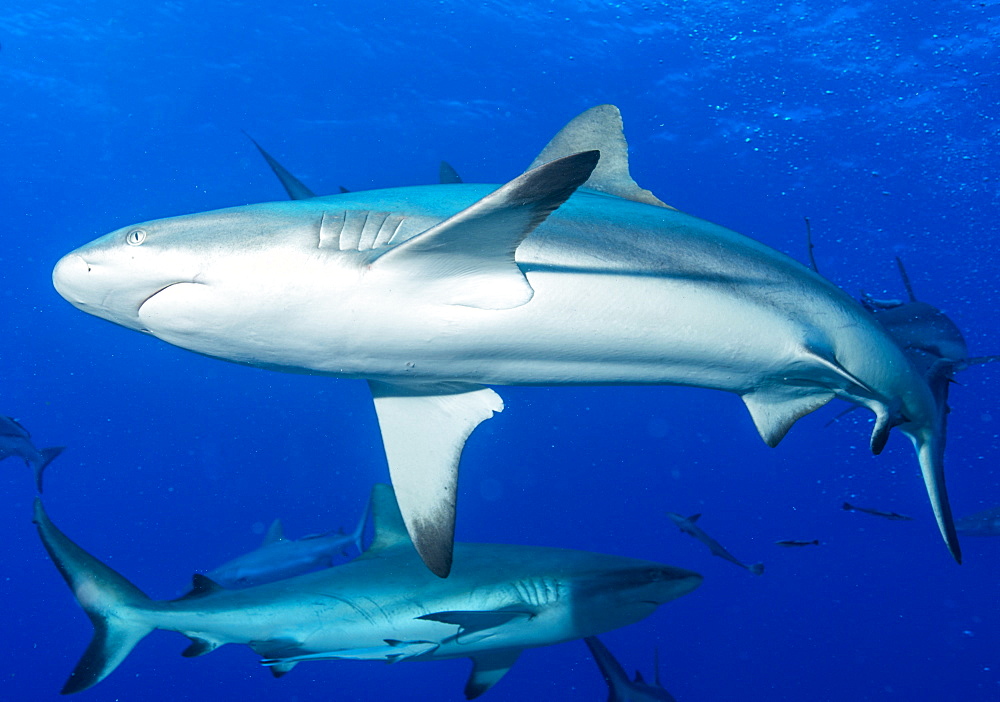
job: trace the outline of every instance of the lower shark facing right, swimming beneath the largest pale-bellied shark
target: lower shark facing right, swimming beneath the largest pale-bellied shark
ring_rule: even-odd
[[[155,601],[71,541],[36,501],[42,543],[94,625],[62,692],[96,685],[163,629],[191,640],[188,657],[248,645],[278,676],[304,661],[471,658],[465,696],[473,699],[525,648],[638,622],[702,580],[634,558],[465,543],[441,579],[423,567],[388,485],[373,487],[371,513],[374,541],[349,563],[243,590],[195,575],[187,595]]]

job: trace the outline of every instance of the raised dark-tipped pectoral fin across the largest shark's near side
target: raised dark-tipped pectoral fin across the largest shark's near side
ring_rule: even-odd
[[[371,273],[402,271],[396,287],[416,280],[445,304],[506,310],[534,295],[514,261],[521,242],[590,176],[600,153],[586,151],[518,176],[371,263]],[[434,287],[434,283],[440,285]]]

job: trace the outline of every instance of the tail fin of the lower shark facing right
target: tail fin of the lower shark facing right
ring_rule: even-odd
[[[153,627],[135,616],[150,604],[137,587],[70,541],[35,500],[35,524],[45,550],[94,625],[94,638],[63,686],[68,695],[103,680]]]

